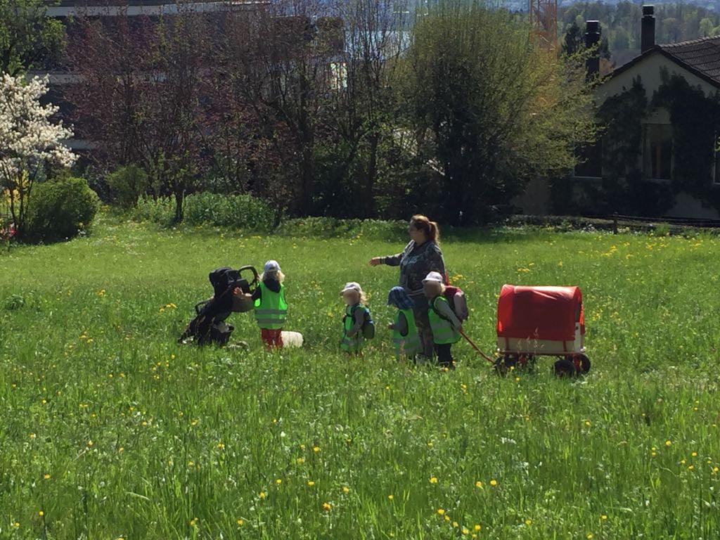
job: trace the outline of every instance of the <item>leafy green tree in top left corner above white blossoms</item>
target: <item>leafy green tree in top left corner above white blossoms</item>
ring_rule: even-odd
[[[65,27],[42,0],[0,0],[0,72],[16,76],[57,60]]]

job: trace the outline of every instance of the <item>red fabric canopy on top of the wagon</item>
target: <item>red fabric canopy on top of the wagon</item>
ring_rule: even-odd
[[[498,299],[498,336],[571,341],[575,323],[585,333],[580,287],[503,285]]]

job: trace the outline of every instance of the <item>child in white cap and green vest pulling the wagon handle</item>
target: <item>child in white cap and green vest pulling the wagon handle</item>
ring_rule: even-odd
[[[444,297],[443,276],[439,272],[430,272],[423,279],[423,292],[428,299],[428,319],[430,319],[430,328],[433,330],[433,343],[435,354],[438,356],[438,364],[454,369],[455,363],[450,348],[460,339],[462,322]]]

